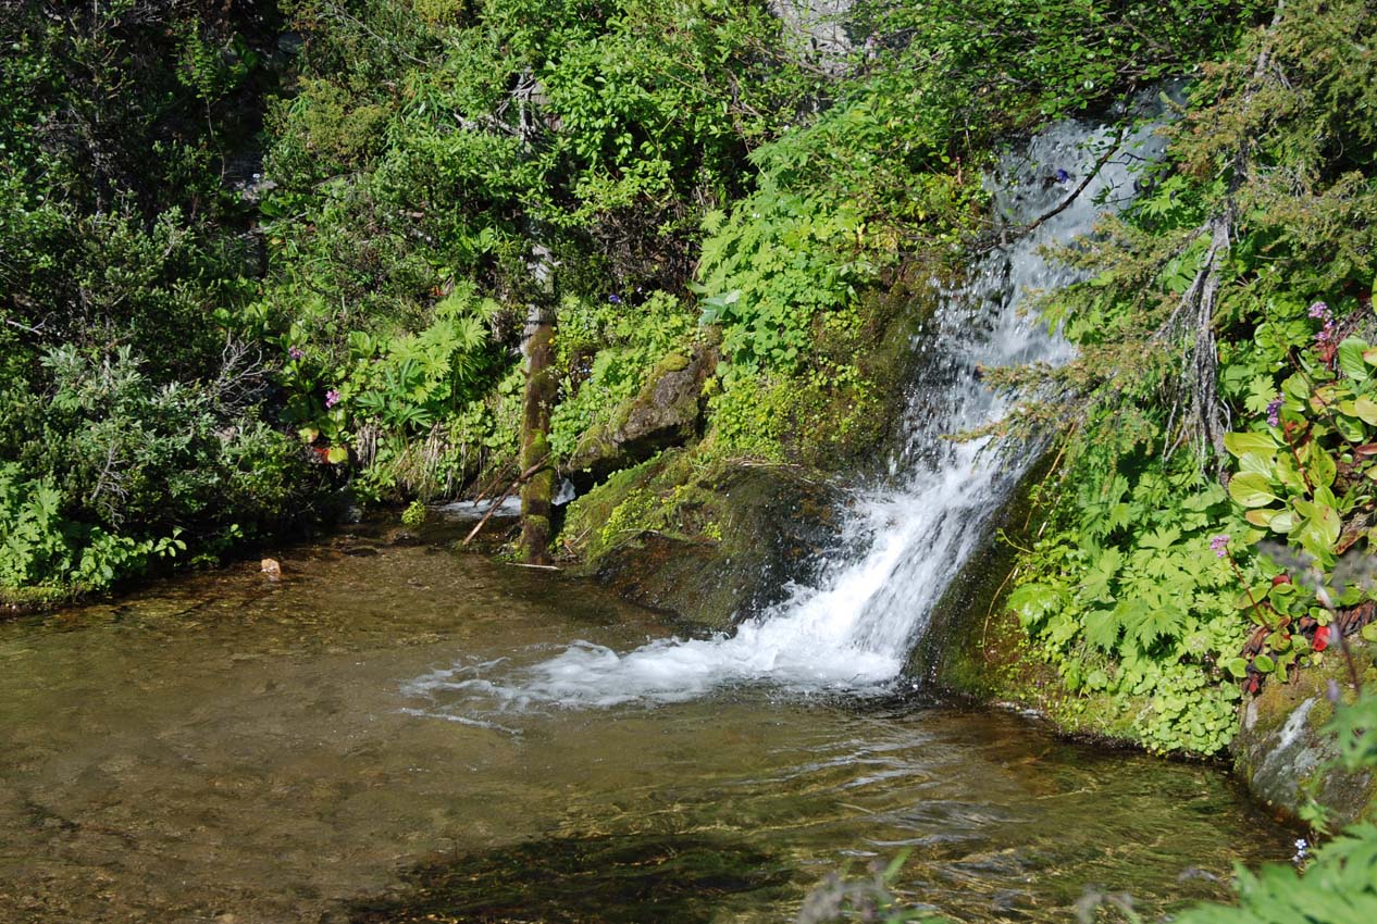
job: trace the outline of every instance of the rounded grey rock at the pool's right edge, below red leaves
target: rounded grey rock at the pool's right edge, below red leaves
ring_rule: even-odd
[[[1301,671],[1290,683],[1270,682],[1243,705],[1234,739],[1235,770],[1254,796],[1282,814],[1297,815],[1311,790],[1336,826],[1377,817],[1373,774],[1329,767],[1334,757],[1334,741],[1323,731],[1334,715],[1329,682],[1345,684],[1345,676],[1336,658]]]

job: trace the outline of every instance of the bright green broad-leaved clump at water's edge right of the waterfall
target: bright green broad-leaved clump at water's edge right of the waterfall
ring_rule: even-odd
[[[1066,689],[1108,697],[1150,749],[1220,750],[1239,691],[1219,665],[1245,636],[1235,573],[1210,551],[1232,516],[1224,490],[1180,465],[1117,474],[1100,490],[1071,476],[1078,519],[1024,556],[1031,577],[1009,607]]]

